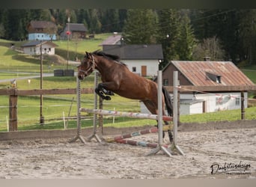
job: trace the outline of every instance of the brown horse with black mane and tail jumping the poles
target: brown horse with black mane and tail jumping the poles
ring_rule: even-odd
[[[78,78],[85,79],[95,69],[101,74],[102,82],[95,88],[95,92],[100,97],[109,100],[111,99],[110,96],[117,93],[129,99],[139,99],[144,102],[144,105],[152,114],[158,114],[156,82],[129,71],[117,55],[110,55],[100,51],[86,52],[85,58],[78,67]],[[171,98],[168,91],[162,87],[162,93],[162,114],[166,115],[164,107],[166,105],[168,114],[172,116]],[[165,121],[165,125],[167,124],[168,122]],[[164,135],[165,133],[163,133]],[[170,130],[168,130],[168,135],[170,141],[172,141]]]

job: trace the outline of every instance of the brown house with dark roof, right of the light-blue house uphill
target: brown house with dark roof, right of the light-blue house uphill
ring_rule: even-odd
[[[61,38],[67,39],[85,39],[88,29],[82,23],[67,23],[64,31],[61,32]]]

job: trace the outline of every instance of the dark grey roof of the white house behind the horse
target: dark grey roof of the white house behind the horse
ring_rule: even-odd
[[[162,59],[162,45],[104,45],[103,52],[118,55],[121,59]]]

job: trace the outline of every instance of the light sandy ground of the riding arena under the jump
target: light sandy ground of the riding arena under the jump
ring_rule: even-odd
[[[132,139],[156,142],[157,134]],[[86,144],[80,140],[68,143],[69,140],[0,141],[0,179],[256,178],[254,125],[181,130],[178,144],[185,156],[174,153],[168,157],[162,151],[145,156],[152,148],[99,144],[94,140]]]

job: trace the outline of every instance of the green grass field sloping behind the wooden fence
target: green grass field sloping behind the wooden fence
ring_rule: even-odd
[[[100,43],[110,34],[99,34],[94,39],[82,41],[70,41],[70,59],[76,55],[82,58],[85,51],[93,52],[101,49]],[[24,76],[34,76],[40,73],[40,59],[29,55],[23,55],[19,52],[10,49],[12,41],[0,40],[0,80],[16,79]],[[15,42],[16,46],[20,46],[24,42]],[[67,41],[55,41],[58,45],[56,53],[62,58],[67,57]],[[66,64],[56,64],[51,58],[44,58],[43,72],[53,73],[55,69],[64,69]],[[76,70],[76,67],[70,66]],[[243,69],[243,73],[256,82],[256,67]],[[17,88],[21,90],[39,89],[40,79],[31,79],[28,84],[28,79],[16,80]],[[92,88],[94,86],[94,76],[89,76],[81,83],[82,88]],[[0,82],[1,88],[10,87],[10,82]],[[76,77],[43,77],[43,88],[76,88]],[[74,101],[73,101],[74,99]],[[9,115],[8,96],[0,96],[0,131],[7,130],[7,117]],[[73,103],[73,104],[71,104]],[[39,96],[19,96],[18,98],[18,129],[63,129],[64,123],[61,119],[63,115],[67,117],[76,115],[76,95],[47,95],[43,96],[43,116],[45,117],[45,125],[39,126],[40,116],[40,98]],[[71,106],[72,105],[72,106]],[[93,108],[94,95],[82,95],[82,107]],[[111,101],[104,101],[104,109],[117,111],[140,111],[140,103],[137,100],[126,99],[121,96],[112,96]],[[91,114],[86,114],[91,117]],[[246,108],[246,119],[256,119],[256,107]],[[182,123],[220,120],[240,120],[240,110],[218,111],[206,114],[193,114],[180,116]],[[90,119],[82,120],[82,127],[92,126],[93,122]],[[155,125],[154,120],[138,120],[127,117],[115,117],[114,126],[144,126]],[[104,118],[104,126],[113,126],[113,117]],[[76,120],[69,120],[68,128],[75,128]]]

